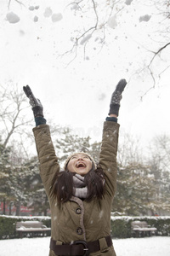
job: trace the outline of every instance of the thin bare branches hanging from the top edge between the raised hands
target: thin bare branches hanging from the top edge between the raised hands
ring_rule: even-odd
[[[118,5],[119,3],[119,5]],[[83,49],[84,59],[88,44],[96,44],[99,50],[105,45],[105,26],[111,15],[122,11],[122,0],[106,0],[98,3],[94,0],[76,0],[69,3],[66,9],[71,8],[74,15],[80,18],[79,25],[73,32],[72,47],[64,55],[73,55],[68,65],[75,60],[79,51]]]

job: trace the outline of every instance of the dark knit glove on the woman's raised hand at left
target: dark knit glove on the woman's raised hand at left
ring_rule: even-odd
[[[32,111],[34,113],[34,117],[37,118],[38,116],[43,117],[43,107],[40,100],[38,100],[32,93],[31,88],[29,85],[23,86],[23,90],[26,93],[26,96],[30,100],[30,105],[32,107]]]

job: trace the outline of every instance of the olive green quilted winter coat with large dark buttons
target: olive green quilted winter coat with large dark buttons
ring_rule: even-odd
[[[116,151],[119,125],[105,121],[99,164],[105,172],[105,195],[102,200],[87,202],[72,196],[59,207],[51,196],[52,180],[59,172],[59,163],[55,155],[48,125],[39,125],[33,129],[40,162],[42,183],[46,189],[51,209],[51,236],[57,244],[99,239],[100,251],[92,255],[115,256],[114,248],[107,247],[103,237],[111,234],[111,203],[116,192]],[[54,256],[50,250],[49,256]]]

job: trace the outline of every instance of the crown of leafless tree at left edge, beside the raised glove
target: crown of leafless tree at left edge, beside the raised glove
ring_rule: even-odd
[[[30,124],[31,120],[25,113],[26,108],[28,108],[26,96],[17,85],[11,83],[0,85],[0,133],[4,148],[14,134],[24,134],[26,125]]]

